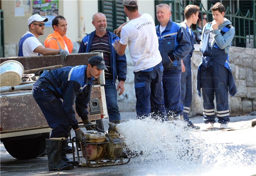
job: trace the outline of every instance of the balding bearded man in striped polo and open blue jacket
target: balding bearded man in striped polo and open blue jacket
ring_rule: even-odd
[[[117,105],[117,91],[120,96],[124,92],[127,63],[125,55],[116,54],[112,44],[119,40],[114,33],[107,30],[107,19],[103,13],[92,16],[92,24],[95,31],[86,35],[81,41],[78,53],[103,52],[108,71],[105,71],[105,95],[108,109],[109,122],[120,123],[121,117]],[[119,83],[116,88],[116,79]]]

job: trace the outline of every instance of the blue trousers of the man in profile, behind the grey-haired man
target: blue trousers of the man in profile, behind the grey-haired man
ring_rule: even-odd
[[[191,81],[190,67],[186,67],[186,71],[181,73],[180,85],[181,85],[181,102],[184,106],[183,120],[188,122],[188,125],[190,125],[192,124],[192,122],[189,120],[189,110],[192,102],[192,81]]]

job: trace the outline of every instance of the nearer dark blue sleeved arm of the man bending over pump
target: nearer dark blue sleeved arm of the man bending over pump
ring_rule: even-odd
[[[75,104],[76,94],[81,88],[81,85],[76,81],[68,81],[66,90],[63,92],[63,110],[69,120],[70,126],[73,129],[79,128],[78,121],[75,118],[75,110],[73,105]]]

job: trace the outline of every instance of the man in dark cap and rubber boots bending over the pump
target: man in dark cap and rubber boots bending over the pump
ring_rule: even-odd
[[[34,84],[33,97],[52,128],[50,139],[46,139],[49,171],[73,169],[73,161],[66,157],[70,126],[75,130],[78,142],[84,136],[75,118],[73,105],[76,103],[76,112],[83,123],[92,124],[86,109],[92,81],[100,76],[102,70],[107,70],[103,58],[92,56],[87,66],[68,66],[48,71]]]

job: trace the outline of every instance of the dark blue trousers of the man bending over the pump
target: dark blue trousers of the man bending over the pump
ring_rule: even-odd
[[[37,84],[34,84],[32,94],[49,127],[52,128],[50,138],[68,138],[70,125],[68,117],[63,110],[61,99],[56,98],[52,91],[46,91]]]

